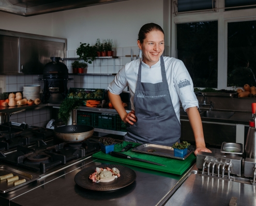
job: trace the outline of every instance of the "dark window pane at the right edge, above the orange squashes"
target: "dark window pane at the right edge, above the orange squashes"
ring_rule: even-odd
[[[228,23],[228,87],[256,86],[256,21]]]

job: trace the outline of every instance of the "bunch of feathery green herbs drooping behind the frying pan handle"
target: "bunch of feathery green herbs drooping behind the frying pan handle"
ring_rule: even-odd
[[[65,125],[67,125],[70,112],[82,105],[83,101],[80,99],[64,99],[58,111],[58,118],[62,119]]]

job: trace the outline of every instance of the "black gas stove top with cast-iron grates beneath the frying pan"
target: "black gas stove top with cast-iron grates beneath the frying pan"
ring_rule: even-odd
[[[0,148],[0,166],[6,173],[42,178],[83,161],[99,151],[100,144],[97,138],[65,143],[55,138],[52,129],[11,122],[0,125]]]

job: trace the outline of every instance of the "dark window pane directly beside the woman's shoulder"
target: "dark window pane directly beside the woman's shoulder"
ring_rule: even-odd
[[[218,22],[177,24],[177,53],[194,87],[217,88]]]

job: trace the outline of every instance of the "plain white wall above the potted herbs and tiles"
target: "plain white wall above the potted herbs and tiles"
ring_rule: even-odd
[[[130,0],[56,12],[53,36],[68,39],[68,50],[80,42],[94,45],[97,38],[113,39],[114,47],[137,46],[142,25],[163,26],[163,0]]]

